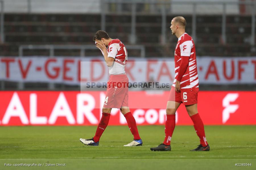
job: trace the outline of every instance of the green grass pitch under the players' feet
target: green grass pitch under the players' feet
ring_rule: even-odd
[[[153,152],[164,139],[164,126],[138,126],[143,146],[127,126],[108,126],[99,146],[79,138],[94,136],[96,126],[0,127],[0,169],[255,169],[256,126],[205,126],[210,152],[190,152],[199,145],[193,126],[176,126],[172,151]],[[12,166],[5,166],[10,163]],[[66,163],[26,167],[19,163]],[[235,166],[251,163],[251,166]]]

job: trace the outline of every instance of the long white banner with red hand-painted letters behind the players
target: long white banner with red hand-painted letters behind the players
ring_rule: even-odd
[[[86,66],[82,65],[86,61]],[[130,82],[173,82],[173,58],[128,58]],[[90,63],[90,64],[88,64]],[[80,85],[108,81],[103,57],[0,57],[0,79]],[[200,84],[255,84],[256,57],[198,57]],[[85,71],[86,73],[82,73]]]

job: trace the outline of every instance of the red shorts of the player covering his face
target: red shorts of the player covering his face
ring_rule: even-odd
[[[128,107],[128,82],[126,74],[110,75],[103,107],[111,109]]]

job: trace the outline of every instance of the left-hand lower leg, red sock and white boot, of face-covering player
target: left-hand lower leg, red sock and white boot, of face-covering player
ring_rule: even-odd
[[[80,141],[83,144],[92,145],[92,146],[99,145],[100,137],[101,137],[102,133],[104,132],[104,130],[108,126],[108,122],[110,119],[110,112],[111,112],[111,109],[105,108],[105,107],[102,108],[102,117],[101,117],[100,123],[98,124],[98,127],[96,129],[96,133],[95,133],[94,137],[92,139],[80,139]]]

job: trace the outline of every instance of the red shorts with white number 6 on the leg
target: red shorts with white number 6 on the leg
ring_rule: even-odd
[[[199,88],[187,88],[187,89],[180,89],[180,93],[175,91],[175,87],[172,86],[168,101],[176,101],[178,103],[183,103],[184,105],[193,105],[197,104],[197,94]]]

